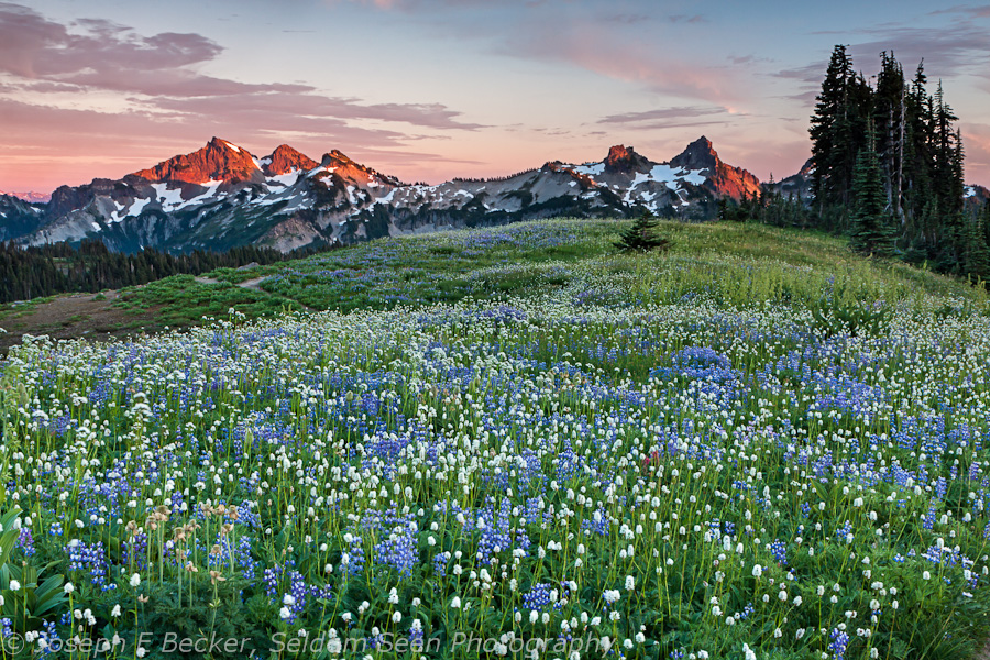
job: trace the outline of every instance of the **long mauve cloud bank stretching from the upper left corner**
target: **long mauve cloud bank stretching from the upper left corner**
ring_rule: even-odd
[[[136,95],[123,98],[148,111],[187,119],[198,114],[200,121],[250,116],[258,130],[280,129],[296,114],[320,116],[333,127],[332,120],[375,120],[437,130],[481,128],[439,103],[363,103],[326,96],[310,85],[242,82],[196,70],[221,53],[219,44],[199,34],[142,36],[101,19],[63,25],[0,2],[0,73],[13,76],[23,91]]]

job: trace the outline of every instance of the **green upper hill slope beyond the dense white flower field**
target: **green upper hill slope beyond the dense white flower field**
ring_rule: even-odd
[[[613,248],[625,226],[615,220],[551,220],[484,230],[383,239],[285,264],[221,270],[196,284],[178,276],[125,290],[118,304],[155,308],[160,324],[183,327],[233,307],[249,318],[283,309],[349,311],[528,296],[584,283],[618,287],[640,301],[706,294],[748,306],[817,299],[829,278],[850,295],[887,302],[926,295],[983,309],[987,298],[952,278],[898,262],[851,254],[835,237],[759,224],[664,222],[666,255],[624,256]],[[264,278],[255,289],[233,284]],[[264,295],[268,294],[268,295]]]

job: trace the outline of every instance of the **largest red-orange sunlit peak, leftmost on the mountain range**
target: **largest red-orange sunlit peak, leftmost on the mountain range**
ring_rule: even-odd
[[[264,180],[262,172],[248,150],[216,136],[200,150],[174,156],[147,169],[139,169],[133,173],[133,176],[150,182],[185,184],[206,184],[217,180],[261,183]]]

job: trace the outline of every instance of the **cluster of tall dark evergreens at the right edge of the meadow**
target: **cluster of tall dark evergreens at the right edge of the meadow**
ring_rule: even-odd
[[[823,229],[862,254],[990,278],[990,205],[964,204],[958,117],[942,82],[934,94],[927,82],[924,63],[909,80],[892,53],[868,80],[836,46],[809,130],[812,198],[767,193],[724,202],[719,216]]]

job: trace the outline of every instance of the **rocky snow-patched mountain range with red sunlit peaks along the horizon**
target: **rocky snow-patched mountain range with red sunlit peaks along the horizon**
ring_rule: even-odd
[[[807,198],[811,164],[777,184],[718,157],[701,136],[667,162],[617,145],[598,162],[551,161],[499,178],[406,184],[333,150],[319,162],[283,144],[258,157],[213,138],[190,154],[120,179],[56,189],[47,202],[0,194],[0,241],[37,245],[99,238],[116,251],[287,252],[443,228],[552,216],[711,219],[718,199],[777,187]],[[986,189],[983,189],[986,193]]]

